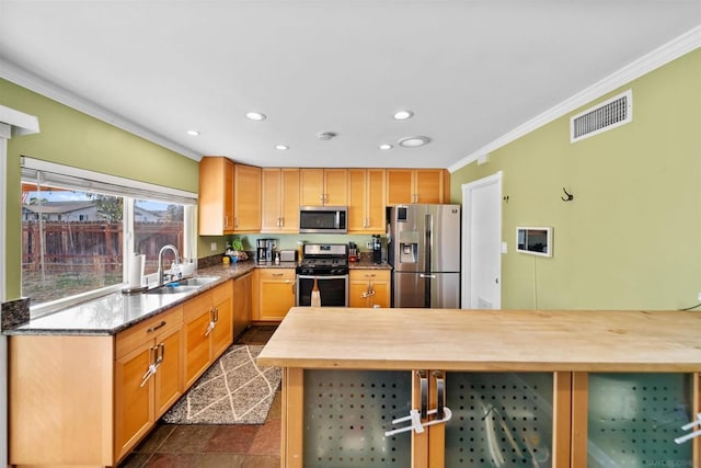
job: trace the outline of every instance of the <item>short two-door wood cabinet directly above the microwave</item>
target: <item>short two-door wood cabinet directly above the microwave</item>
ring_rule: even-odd
[[[347,169],[300,169],[301,206],[348,205]]]

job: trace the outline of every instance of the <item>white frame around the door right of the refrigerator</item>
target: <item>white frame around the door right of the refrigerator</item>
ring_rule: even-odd
[[[499,248],[497,249],[496,252],[494,252],[494,255],[496,258],[496,265],[497,265],[497,278],[498,278],[498,304],[494,304],[494,308],[495,309],[501,309],[502,308],[502,179],[503,179],[503,171],[498,171],[492,175],[489,175],[486,178],[482,178],[479,179],[476,181],[467,183],[467,184],[462,184],[461,185],[461,191],[462,191],[462,279],[461,279],[461,289],[462,289],[462,294],[461,294],[461,308],[463,309],[468,309],[470,308],[469,305],[471,303],[472,299],[472,290],[471,290],[471,279],[472,279],[472,273],[474,270],[476,270],[476,265],[473,264],[472,259],[470,258],[470,251],[471,251],[471,244],[472,244],[472,239],[473,239],[473,232],[472,229],[474,228],[474,226],[471,226],[471,215],[472,215],[472,204],[473,204],[473,199],[472,199],[472,192],[476,189],[482,189],[484,186],[487,185],[492,185],[492,184],[496,184],[497,186],[497,199],[496,202],[496,206],[497,208],[497,213],[495,214],[496,216],[496,222],[497,222],[497,232],[498,232],[498,246]]]

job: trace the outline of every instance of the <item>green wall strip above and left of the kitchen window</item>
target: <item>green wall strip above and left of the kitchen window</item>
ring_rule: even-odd
[[[41,127],[39,134],[15,137],[8,144],[8,299],[20,295],[21,156],[198,192],[198,163],[180,153],[2,79],[0,105],[36,115]]]

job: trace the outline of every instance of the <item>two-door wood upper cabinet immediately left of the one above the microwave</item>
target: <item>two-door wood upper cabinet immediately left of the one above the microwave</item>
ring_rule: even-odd
[[[299,231],[299,169],[263,168],[261,232]]]

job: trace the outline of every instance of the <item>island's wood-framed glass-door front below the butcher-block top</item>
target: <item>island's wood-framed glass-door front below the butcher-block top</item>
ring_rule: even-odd
[[[699,374],[286,372],[288,467],[691,467],[701,453]]]

